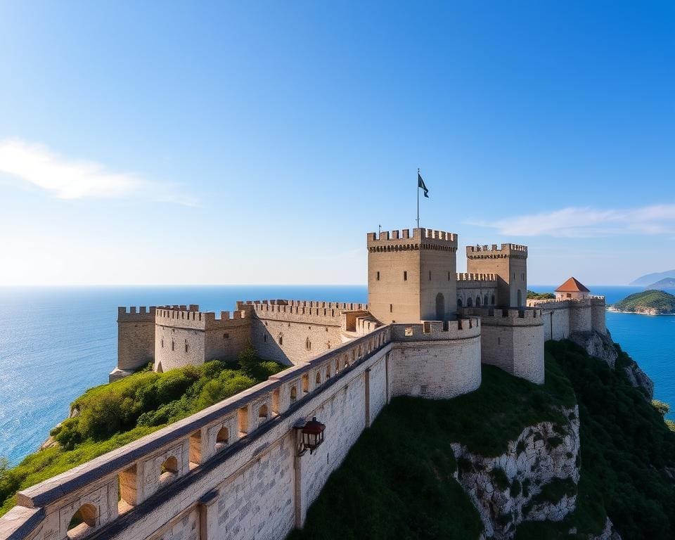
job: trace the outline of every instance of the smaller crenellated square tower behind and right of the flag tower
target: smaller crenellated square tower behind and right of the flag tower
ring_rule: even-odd
[[[473,274],[497,275],[499,307],[525,306],[527,300],[527,246],[502,244],[468,245],[466,271]]]

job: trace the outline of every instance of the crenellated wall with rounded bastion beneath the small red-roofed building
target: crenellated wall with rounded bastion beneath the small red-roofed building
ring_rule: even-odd
[[[607,333],[604,296],[567,300],[527,300],[527,305],[543,311],[545,340],[565,340],[574,332],[591,330],[601,334]]]

